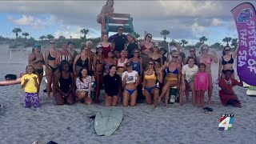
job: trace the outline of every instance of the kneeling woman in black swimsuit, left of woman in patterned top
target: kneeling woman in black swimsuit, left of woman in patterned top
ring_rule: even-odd
[[[70,72],[70,64],[62,61],[59,71],[54,74],[54,97],[57,105],[74,104],[74,75]]]

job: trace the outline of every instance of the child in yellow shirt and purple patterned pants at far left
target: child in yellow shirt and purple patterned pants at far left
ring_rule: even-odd
[[[30,99],[34,101],[34,108],[37,108],[39,105],[38,101],[38,76],[35,74],[34,67],[29,65],[26,66],[26,74],[22,76],[21,82],[22,88],[25,89],[25,107],[30,107]]]

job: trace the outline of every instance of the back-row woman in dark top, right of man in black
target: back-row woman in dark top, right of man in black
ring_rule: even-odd
[[[139,43],[136,41],[133,34],[127,34],[127,42],[125,45],[125,50],[127,50],[127,58],[133,58],[133,50],[139,49]]]

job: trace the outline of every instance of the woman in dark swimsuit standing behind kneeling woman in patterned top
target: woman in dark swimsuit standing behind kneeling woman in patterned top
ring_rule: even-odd
[[[80,49],[82,53],[78,54],[74,58],[73,64],[73,71],[74,71],[74,78],[76,78],[83,67],[86,67],[90,71],[90,58],[87,54],[87,46],[85,42],[81,43]]]

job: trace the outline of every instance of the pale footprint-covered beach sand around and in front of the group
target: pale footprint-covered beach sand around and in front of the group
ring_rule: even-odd
[[[10,52],[8,46],[1,45],[0,80],[6,74],[19,74],[27,65],[26,51]],[[219,54],[220,55],[220,54]],[[218,57],[220,57],[218,55]],[[36,111],[24,108],[24,90],[20,85],[0,86],[0,143],[30,144],[34,141],[46,143],[256,143],[256,107],[255,97],[246,96],[246,88],[235,87],[235,93],[242,102],[242,108],[222,106],[218,97],[218,64],[213,65],[214,108],[212,114],[204,114],[190,102],[183,106],[178,103],[169,108],[161,103],[155,110],[146,103],[135,107],[118,108],[123,110],[123,120],[118,130],[111,136],[98,136],[94,130],[94,120],[88,118],[104,108],[93,104],[86,106],[76,103],[74,106],[56,106],[54,99],[46,100],[42,90],[46,83],[42,82],[40,99],[42,107]],[[206,100],[208,96],[206,94]],[[234,122],[230,131],[218,130],[222,114],[234,114]]]

